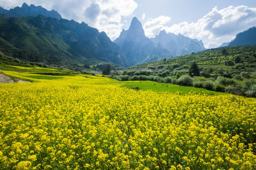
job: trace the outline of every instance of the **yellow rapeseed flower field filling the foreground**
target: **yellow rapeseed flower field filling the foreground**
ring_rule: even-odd
[[[0,85],[1,170],[255,170],[255,143],[254,98],[83,75]]]

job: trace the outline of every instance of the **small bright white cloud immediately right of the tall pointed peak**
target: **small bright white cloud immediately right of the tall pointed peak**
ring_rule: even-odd
[[[155,19],[148,18],[143,28],[145,35],[149,38],[158,34],[165,26],[167,22],[171,20],[171,17],[160,16]]]

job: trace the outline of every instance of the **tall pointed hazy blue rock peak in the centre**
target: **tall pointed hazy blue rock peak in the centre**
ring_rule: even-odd
[[[130,66],[170,58],[171,54],[161,44],[154,44],[145,36],[144,29],[137,17],[131,21],[128,30],[122,30],[119,38],[114,40],[121,47],[129,60]]]

